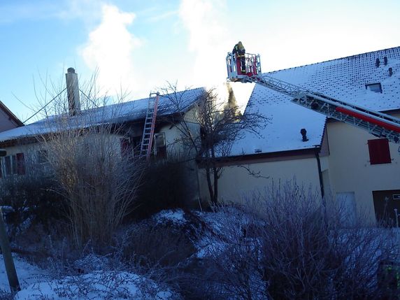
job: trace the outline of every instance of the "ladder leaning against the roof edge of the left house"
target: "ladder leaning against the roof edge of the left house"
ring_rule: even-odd
[[[145,117],[145,126],[143,127],[141,157],[146,160],[150,158],[152,150],[152,140],[155,129],[155,119],[157,117],[157,107],[159,101],[159,93],[150,93],[148,101],[148,110]]]

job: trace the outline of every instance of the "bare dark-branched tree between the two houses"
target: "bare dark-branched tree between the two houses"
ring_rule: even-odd
[[[162,88],[164,97],[171,101],[178,111],[185,108],[185,94],[178,92],[176,84],[168,83]],[[192,108],[186,115],[178,115],[171,120],[178,125],[180,139],[187,152],[199,161],[206,172],[206,180],[210,201],[218,201],[218,179],[222,175],[223,166],[220,163],[229,159],[234,141],[244,138],[246,133],[259,134],[266,127],[269,118],[261,113],[241,113],[234,92],[227,85],[228,101],[220,99],[215,88],[204,90],[199,96],[198,106]],[[178,120],[176,120],[178,118]],[[178,122],[177,122],[178,121]]]

